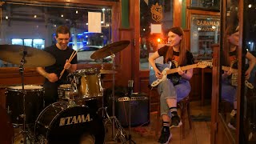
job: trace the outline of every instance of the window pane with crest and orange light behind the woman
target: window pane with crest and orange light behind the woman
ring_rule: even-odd
[[[140,69],[149,70],[150,53],[166,43],[166,30],[173,26],[173,1],[148,0],[140,1]],[[153,24],[153,25],[152,25]],[[154,32],[161,26],[161,32]]]

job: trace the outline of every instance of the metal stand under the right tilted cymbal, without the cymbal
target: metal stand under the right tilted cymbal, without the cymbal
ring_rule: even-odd
[[[111,54],[111,60],[112,60],[112,70],[113,70],[113,85],[112,85],[112,96],[111,96],[111,98],[112,98],[112,116],[109,116],[109,114],[107,114],[107,110],[106,110],[106,108],[107,107],[104,107],[104,105],[102,105],[102,108],[100,108],[99,110],[103,110],[103,112],[102,112],[102,114],[105,112],[105,114],[106,114],[106,121],[105,121],[105,123],[104,123],[104,126],[106,126],[106,124],[108,124],[108,123],[110,123],[110,124],[112,124],[112,138],[113,138],[113,140],[114,141],[117,141],[118,140],[118,138],[120,138],[120,140],[122,141],[122,142],[126,142],[126,131],[122,128],[122,126],[121,126],[121,124],[120,124],[120,122],[118,122],[118,118],[116,118],[115,117],[115,115],[114,115],[114,102],[115,102],[115,96],[114,96],[114,84],[115,84],[115,82],[114,82],[114,79],[115,79],[115,77],[114,77],[114,72],[115,72],[115,62],[114,62],[114,57],[115,57],[115,55],[114,54]],[[103,99],[103,98],[102,98]],[[104,103],[102,103],[102,104],[104,104]],[[117,133],[115,134],[115,130],[114,130],[114,128],[115,128],[115,126],[117,127],[117,129],[118,129],[118,131],[117,131]],[[115,135],[114,135],[115,134]]]

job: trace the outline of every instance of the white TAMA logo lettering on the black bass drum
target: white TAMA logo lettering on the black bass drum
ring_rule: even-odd
[[[90,119],[90,114],[81,114],[81,115],[74,115],[66,118],[61,118],[59,121],[59,126],[65,126],[65,125],[74,125],[77,123],[82,122],[90,122],[92,119]]]

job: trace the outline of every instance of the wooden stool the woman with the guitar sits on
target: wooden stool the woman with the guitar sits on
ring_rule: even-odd
[[[152,97],[152,92],[154,90],[158,91],[157,87],[150,87],[150,98]],[[155,94],[155,93],[154,93]],[[158,93],[157,93],[158,94]],[[160,96],[158,95],[158,98]],[[177,103],[178,108],[181,109],[181,121],[182,121],[182,138],[185,138],[185,114],[187,112],[187,118],[189,120],[190,130],[192,129],[192,121],[190,118],[190,96],[186,96],[186,98],[183,98],[180,102]],[[159,132],[159,124],[160,121],[160,100],[158,101],[158,111],[157,111],[157,120],[156,120],[156,128],[155,128],[155,137],[158,138],[158,132]]]

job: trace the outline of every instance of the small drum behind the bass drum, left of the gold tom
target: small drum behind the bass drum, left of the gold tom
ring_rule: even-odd
[[[72,93],[71,84],[64,84],[58,86],[58,98],[60,100],[70,99]]]

